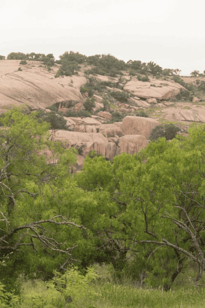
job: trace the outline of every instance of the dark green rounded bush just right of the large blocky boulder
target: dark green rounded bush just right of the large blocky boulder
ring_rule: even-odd
[[[177,132],[181,132],[181,129],[174,124],[160,124],[152,129],[152,133],[149,137],[150,140],[157,140],[160,137],[165,137],[166,140],[172,140],[177,135]]]

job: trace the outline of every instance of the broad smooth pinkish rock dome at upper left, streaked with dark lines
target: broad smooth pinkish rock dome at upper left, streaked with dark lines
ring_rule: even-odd
[[[10,104],[28,103],[32,109],[45,109],[59,102],[70,107],[84,103],[80,86],[86,84],[85,77],[54,78],[60,65],[47,71],[45,67],[39,67],[41,62],[27,62],[29,65],[21,65],[20,60],[0,60],[0,109],[3,106],[8,109]],[[19,67],[22,71],[18,71]],[[69,87],[71,79],[74,80],[73,87]],[[65,107],[63,103],[60,108]]]

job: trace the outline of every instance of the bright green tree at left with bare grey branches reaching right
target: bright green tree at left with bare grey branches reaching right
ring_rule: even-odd
[[[7,265],[0,280],[8,291],[22,270],[46,279],[59,261],[65,268],[77,260],[74,247],[77,238],[84,241],[81,230],[86,232],[61,206],[62,179],[69,185],[77,151],[55,141],[49,124],[38,123],[37,112],[26,114],[25,108],[14,107],[0,118],[0,259]]]

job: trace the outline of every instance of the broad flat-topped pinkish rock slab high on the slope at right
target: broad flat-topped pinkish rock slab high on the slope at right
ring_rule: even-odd
[[[162,83],[161,80],[152,78],[149,76],[149,82],[139,81],[136,77],[124,86],[124,91],[128,91],[141,98],[156,98],[156,99],[169,99],[186,89],[179,83],[165,81]],[[153,84],[154,86],[151,86]]]

